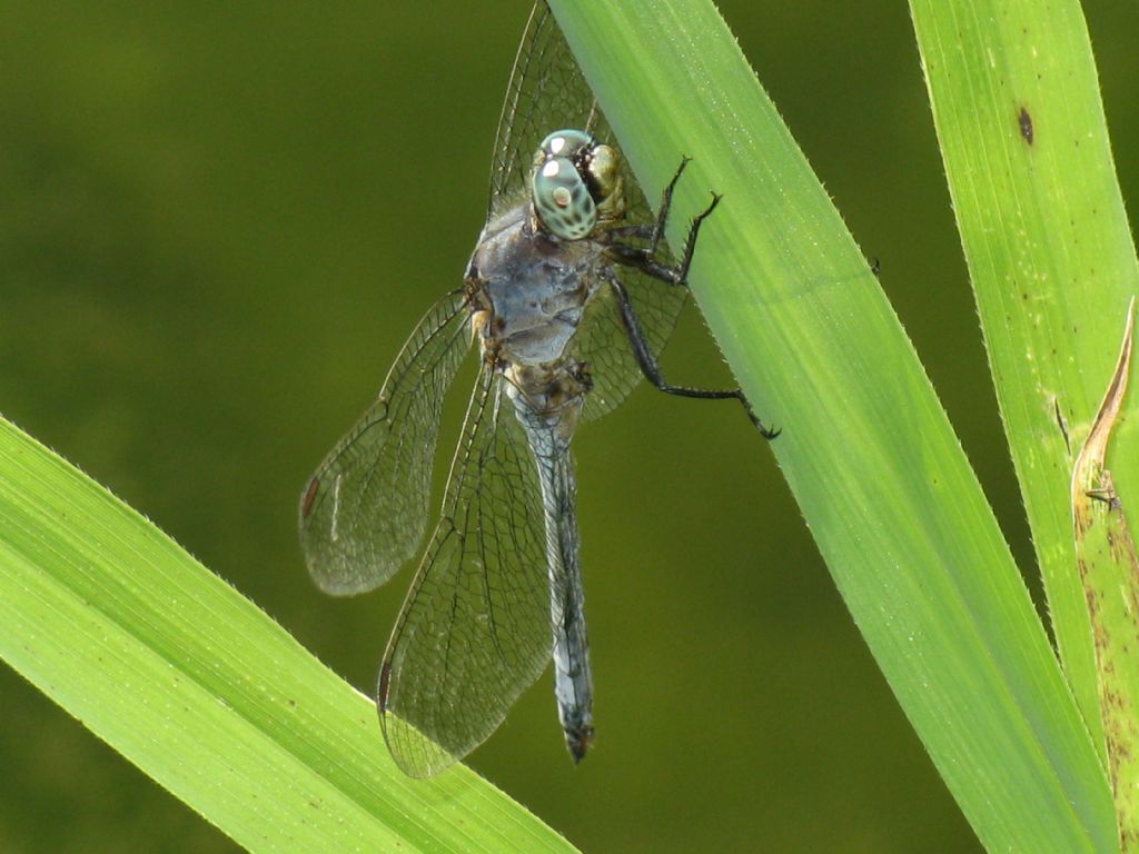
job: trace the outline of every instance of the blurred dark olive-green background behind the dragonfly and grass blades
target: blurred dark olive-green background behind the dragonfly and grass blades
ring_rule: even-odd
[[[906,5],[721,8],[1031,576]],[[296,498],[459,281],[527,10],[0,5],[0,412],[367,692],[410,573],[319,594]],[[1087,14],[1133,198],[1134,8]],[[693,310],[665,364],[727,381]],[[543,678],[480,772],[589,852],[978,851],[734,405],[642,388],[576,451],[597,746]],[[235,848],[0,670],[0,851]]]

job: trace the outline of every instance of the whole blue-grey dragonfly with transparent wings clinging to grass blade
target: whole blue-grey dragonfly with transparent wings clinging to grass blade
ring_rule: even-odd
[[[688,397],[739,389],[665,381],[657,355],[687,296],[705,217],[673,256],[557,24],[539,2],[515,60],[490,203],[464,284],[408,338],[376,402],[301,496],[304,557],[323,591],[384,584],[420,555],[443,399],[480,371],[443,507],[384,652],[376,695],[396,764],[431,777],[499,726],[554,660],[575,762],[593,738],[571,440],[642,378]],[[477,345],[477,346],[475,346]]]

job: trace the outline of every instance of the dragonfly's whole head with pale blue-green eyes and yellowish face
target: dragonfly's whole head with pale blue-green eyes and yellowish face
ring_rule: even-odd
[[[534,155],[531,191],[542,228],[581,240],[625,213],[621,155],[585,131],[555,131]]]

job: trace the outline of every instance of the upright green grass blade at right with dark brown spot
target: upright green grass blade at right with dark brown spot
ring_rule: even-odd
[[[1076,0],[910,7],[1057,647],[1103,753],[1068,482],[1139,268],[1087,26]],[[1139,484],[1133,430],[1117,445],[1126,496]]]

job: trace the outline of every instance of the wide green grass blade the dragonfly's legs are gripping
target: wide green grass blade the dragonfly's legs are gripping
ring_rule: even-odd
[[[693,290],[756,410],[784,427],[772,450],[819,549],[978,837],[1112,851],[1097,754],[976,478],[723,22],[699,0],[554,6],[650,197],[681,153],[695,161],[680,216],[723,192]]]

